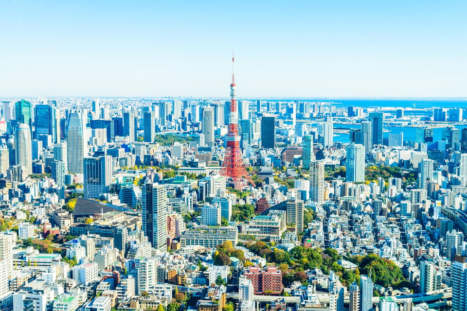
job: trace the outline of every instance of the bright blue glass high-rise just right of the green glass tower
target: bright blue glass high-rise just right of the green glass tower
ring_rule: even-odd
[[[52,142],[60,140],[60,113],[55,106],[50,104],[40,104],[35,107],[34,125],[36,136],[39,134],[51,135]]]

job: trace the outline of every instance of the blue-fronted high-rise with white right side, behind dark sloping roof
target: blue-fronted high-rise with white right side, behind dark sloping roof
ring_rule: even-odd
[[[84,197],[98,199],[102,193],[108,193],[112,183],[112,157],[88,157],[83,160],[84,165]]]

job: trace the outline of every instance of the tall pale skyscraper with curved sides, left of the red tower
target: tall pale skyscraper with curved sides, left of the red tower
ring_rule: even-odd
[[[68,115],[67,127],[67,156],[68,171],[75,174],[83,173],[83,158],[88,154],[88,143],[84,131],[83,114],[79,110],[72,110]]]

